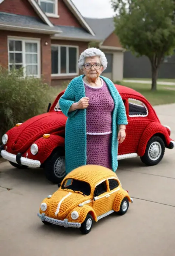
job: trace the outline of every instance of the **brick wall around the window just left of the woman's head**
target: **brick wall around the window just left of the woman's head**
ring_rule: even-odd
[[[78,41],[66,41],[66,40],[51,40],[51,44],[61,44],[61,45],[76,45],[79,47],[79,55],[88,48],[88,42],[78,42]],[[79,71],[79,75],[83,74],[82,71]],[[57,86],[62,85],[63,82],[71,81],[75,76],[52,76],[51,85]]]

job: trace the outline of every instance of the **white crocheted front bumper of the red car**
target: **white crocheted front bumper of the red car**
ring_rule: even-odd
[[[4,159],[17,164],[16,155],[11,154],[11,153],[7,152],[4,149],[1,151],[1,156]],[[30,166],[30,167],[40,167],[40,165],[41,165],[40,161],[29,159],[29,158],[25,158],[25,157],[21,157],[21,164],[22,165],[27,165],[27,166]]]

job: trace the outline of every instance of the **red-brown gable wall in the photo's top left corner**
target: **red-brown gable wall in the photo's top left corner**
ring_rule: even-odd
[[[38,17],[27,0],[5,0],[0,4],[0,11]]]

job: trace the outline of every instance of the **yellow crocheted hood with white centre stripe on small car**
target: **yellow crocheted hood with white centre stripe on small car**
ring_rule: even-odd
[[[49,216],[64,219],[76,206],[88,199],[90,199],[89,196],[83,196],[71,190],[58,190],[49,199]]]

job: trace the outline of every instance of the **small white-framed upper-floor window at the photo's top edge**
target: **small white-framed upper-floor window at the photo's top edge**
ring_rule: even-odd
[[[47,16],[58,16],[58,0],[38,0],[38,3]]]

